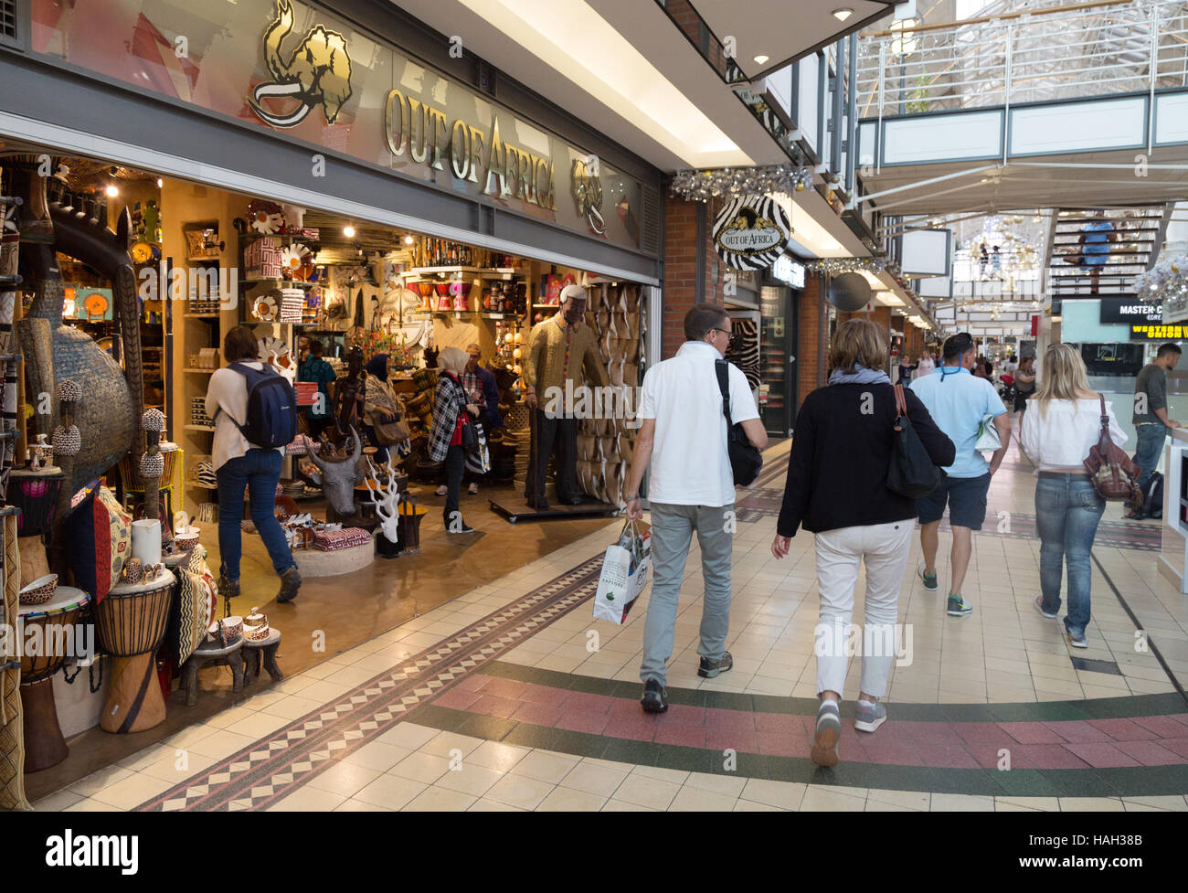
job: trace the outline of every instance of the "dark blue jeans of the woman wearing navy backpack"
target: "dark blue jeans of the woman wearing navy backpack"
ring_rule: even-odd
[[[278,575],[297,566],[289,550],[285,532],[273,514],[277,482],[284,462],[276,450],[251,449],[227,460],[215,476],[219,479],[219,551],[228,580],[239,580],[239,560],[244,553],[240,522],[244,520],[244,488],[252,505],[252,521],[268,550]]]

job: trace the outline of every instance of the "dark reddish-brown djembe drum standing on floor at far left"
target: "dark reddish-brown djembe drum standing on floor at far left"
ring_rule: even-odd
[[[81,589],[58,587],[50,601],[21,606],[17,612],[21,647],[20,704],[25,712],[25,772],[57,766],[69,753],[53,702],[53,674],[68,657],[83,657],[76,653],[78,647],[84,646],[76,638],[75,628],[89,601],[90,596]]]

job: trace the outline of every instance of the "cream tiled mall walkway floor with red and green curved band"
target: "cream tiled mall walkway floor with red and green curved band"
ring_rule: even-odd
[[[694,545],[663,717],[636,703],[646,603],[621,627],[590,619],[613,524],[37,808],[1188,811],[1188,705],[1152,651],[1136,647],[1105,576],[1188,679],[1188,608],[1155,570],[1151,528],[1126,526],[1111,507],[1110,544],[1094,549],[1091,647],[1072,653],[1059,621],[1031,606],[1035,479],[1018,456],[996,476],[974,539],[965,587],[974,613],[948,618],[943,593],[923,589],[917,542],[890,720],[874,735],[847,723],[842,762],[813,766],[811,536],[797,536],[783,562],[769,551],[785,450],[740,494],[734,669],[710,680],[694,672]],[[1073,657],[1105,663],[1078,669]],[[849,677],[847,699],[857,667]]]

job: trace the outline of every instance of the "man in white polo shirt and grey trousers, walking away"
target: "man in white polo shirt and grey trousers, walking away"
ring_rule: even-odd
[[[672,657],[677,601],[694,531],[706,583],[697,674],[713,678],[734,665],[726,651],[731,619],[731,550],[734,474],[726,448],[726,416],[715,365],[731,343],[731,317],[718,304],[697,304],[684,316],[685,343],[671,360],[644,375],[636,451],[627,482],[627,517],[643,517],[639,484],[651,464],[652,594],[644,623],[640,698],[647,712],[668,710],[668,661]],[[767,433],[746,376],[727,365],[731,419],[757,448]]]

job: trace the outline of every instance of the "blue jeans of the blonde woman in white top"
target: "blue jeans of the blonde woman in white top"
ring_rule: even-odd
[[[1049,614],[1060,610],[1060,576],[1068,564],[1068,615],[1064,627],[1073,635],[1089,623],[1089,553],[1098,522],[1106,509],[1085,475],[1042,471],[1036,483],[1036,530],[1040,533],[1041,604]]]

